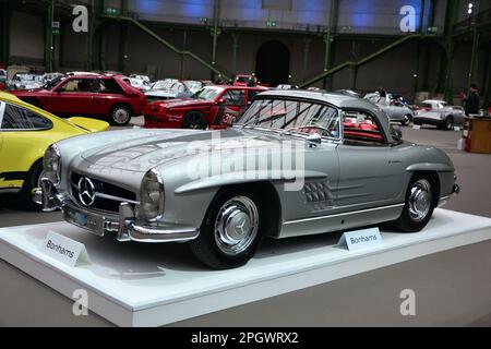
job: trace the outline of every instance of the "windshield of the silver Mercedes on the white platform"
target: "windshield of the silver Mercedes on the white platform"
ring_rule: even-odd
[[[326,105],[308,101],[259,99],[251,105],[237,124],[307,134],[319,133],[328,137],[339,136],[338,110]]]

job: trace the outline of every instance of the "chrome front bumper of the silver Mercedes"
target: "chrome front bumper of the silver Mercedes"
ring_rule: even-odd
[[[129,203],[119,205],[119,215],[94,213],[73,203],[68,195],[59,194],[55,185],[46,178],[41,179],[41,202],[44,212],[61,208],[63,218],[68,222],[99,237],[106,232],[117,232],[118,241],[183,242],[193,240],[199,234],[196,229],[137,225]]]

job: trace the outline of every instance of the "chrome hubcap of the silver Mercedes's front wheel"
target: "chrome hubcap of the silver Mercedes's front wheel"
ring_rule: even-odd
[[[259,213],[254,202],[247,196],[227,201],[215,220],[215,241],[228,255],[246,251],[258,236]]]

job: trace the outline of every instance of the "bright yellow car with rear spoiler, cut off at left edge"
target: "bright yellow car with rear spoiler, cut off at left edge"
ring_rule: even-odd
[[[63,120],[0,92],[0,194],[19,192],[37,207],[34,193],[40,186],[46,148],[60,140],[108,128],[109,123],[94,119]]]

